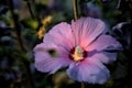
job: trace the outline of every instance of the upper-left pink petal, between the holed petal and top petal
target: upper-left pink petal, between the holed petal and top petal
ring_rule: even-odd
[[[75,46],[70,25],[65,22],[55,25],[47,34],[45,34],[43,42],[46,44],[55,43],[58,46],[65,47],[67,51]]]

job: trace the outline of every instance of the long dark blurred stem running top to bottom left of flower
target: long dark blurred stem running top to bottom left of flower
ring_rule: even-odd
[[[21,37],[22,28],[20,26],[18,15],[14,13],[14,4],[13,4],[12,0],[7,0],[7,4],[9,6],[9,9],[10,9],[10,12],[11,12],[11,15],[12,15],[12,20],[14,22],[14,30],[15,30],[15,34],[16,34],[16,38],[18,38],[20,48],[21,48],[21,53],[25,53],[26,50],[24,48],[23,41],[22,41],[22,37]],[[30,65],[29,65],[28,61],[25,61],[25,59],[22,59],[22,62],[23,62],[23,64],[25,66],[24,68],[26,70],[26,76],[28,76],[30,88],[34,88],[34,81],[32,79]]]

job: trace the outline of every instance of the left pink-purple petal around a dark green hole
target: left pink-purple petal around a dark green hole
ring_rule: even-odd
[[[58,55],[56,57],[52,57],[47,53],[48,50],[55,50]],[[42,43],[36,45],[36,47],[34,48],[34,56],[36,69],[51,74],[54,74],[62,67],[68,66],[72,62],[68,58],[68,53],[64,48],[59,48],[54,44],[46,45]]]

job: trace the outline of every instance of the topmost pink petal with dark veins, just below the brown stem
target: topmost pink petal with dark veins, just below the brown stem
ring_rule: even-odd
[[[82,47],[96,40],[105,31],[105,23],[101,20],[94,18],[81,18],[72,22],[76,44],[80,44]]]

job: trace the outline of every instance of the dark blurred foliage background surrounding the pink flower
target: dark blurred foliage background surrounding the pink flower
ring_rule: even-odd
[[[101,19],[107,34],[122,45],[118,61],[106,65],[111,78],[86,88],[132,88],[132,0],[77,0],[78,16]],[[0,0],[0,88],[80,88],[62,69],[55,75],[37,72],[33,47],[48,30],[74,19],[72,0]]]

